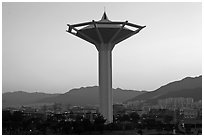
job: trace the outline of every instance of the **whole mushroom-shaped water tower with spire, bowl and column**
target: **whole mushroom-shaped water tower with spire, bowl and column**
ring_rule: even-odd
[[[101,20],[69,25],[67,32],[84,39],[98,50],[99,56],[99,111],[113,122],[112,97],[112,55],[116,44],[137,34],[145,26],[118,21],[110,21],[104,12]]]

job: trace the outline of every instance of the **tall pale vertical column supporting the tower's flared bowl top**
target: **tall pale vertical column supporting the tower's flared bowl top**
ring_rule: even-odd
[[[112,55],[110,45],[103,44],[99,54],[99,103],[100,113],[113,122],[113,97],[112,97]]]

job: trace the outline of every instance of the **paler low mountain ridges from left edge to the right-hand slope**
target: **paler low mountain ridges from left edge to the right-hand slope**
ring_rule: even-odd
[[[27,93],[23,91],[3,93],[3,106],[19,106],[38,103],[62,103],[71,105],[96,105],[99,102],[98,87],[82,87],[72,89],[64,94],[46,94],[46,93]],[[114,103],[121,103],[145,93],[144,91],[113,89]]]

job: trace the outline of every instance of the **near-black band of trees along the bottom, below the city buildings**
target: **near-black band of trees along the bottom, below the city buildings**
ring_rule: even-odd
[[[172,123],[170,117],[158,121],[137,113],[117,115],[111,124],[99,114],[2,113],[3,135],[192,135],[202,134],[201,129],[202,124]]]

